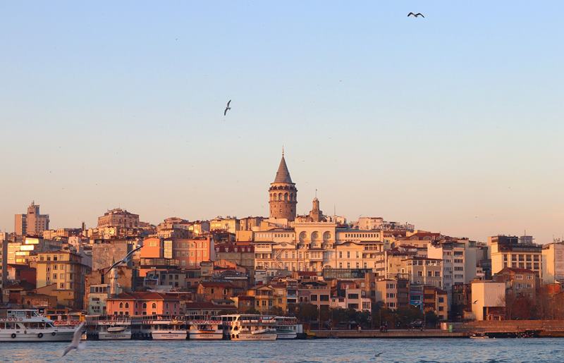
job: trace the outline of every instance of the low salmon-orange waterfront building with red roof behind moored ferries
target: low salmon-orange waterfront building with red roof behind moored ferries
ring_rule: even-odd
[[[160,293],[121,293],[106,300],[108,315],[178,315],[178,297]]]

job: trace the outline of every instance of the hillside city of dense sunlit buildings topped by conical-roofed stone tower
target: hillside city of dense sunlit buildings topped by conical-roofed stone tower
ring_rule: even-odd
[[[0,234],[0,305],[59,319],[294,316],[312,331],[564,319],[564,242],[350,221],[322,211],[317,196],[298,215],[297,185],[282,155],[265,188],[268,217],[157,225],[116,208],[95,227],[50,229],[44,206],[31,202]]]

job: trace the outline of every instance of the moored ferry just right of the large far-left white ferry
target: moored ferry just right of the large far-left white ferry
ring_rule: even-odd
[[[99,340],[131,339],[132,321],[129,316],[87,315],[87,336]]]

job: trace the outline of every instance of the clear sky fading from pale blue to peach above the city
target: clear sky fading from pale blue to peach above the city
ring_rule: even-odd
[[[0,230],[268,216],[284,147],[300,214],[551,242],[561,5],[0,1]]]

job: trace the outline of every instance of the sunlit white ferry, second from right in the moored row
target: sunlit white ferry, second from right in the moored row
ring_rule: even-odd
[[[221,315],[223,336],[231,340],[276,340],[276,320],[257,314]]]

